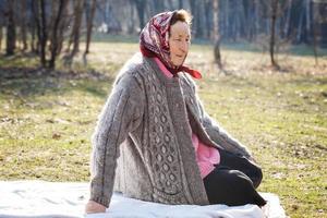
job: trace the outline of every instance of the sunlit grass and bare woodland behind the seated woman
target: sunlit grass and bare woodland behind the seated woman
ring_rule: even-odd
[[[262,192],[327,217],[327,1],[0,0],[0,179],[89,180],[90,135],[154,14],[192,12],[186,65]]]

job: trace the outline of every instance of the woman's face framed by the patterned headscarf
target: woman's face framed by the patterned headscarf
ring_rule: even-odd
[[[170,26],[170,60],[175,66],[183,64],[191,43],[190,26],[185,22],[178,21]]]

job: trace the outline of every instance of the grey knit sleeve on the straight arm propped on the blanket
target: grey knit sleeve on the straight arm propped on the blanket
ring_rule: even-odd
[[[90,198],[106,207],[111,199],[119,145],[142,120],[144,95],[132,75],[113,85],[92,136]]]

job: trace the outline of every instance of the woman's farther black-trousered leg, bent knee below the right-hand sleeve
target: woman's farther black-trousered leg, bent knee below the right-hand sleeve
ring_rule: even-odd
[[[253,182],[253,186],[256,189],[262,182],[263,172],[262,169],[250,161],[245,157],[237,156],[230,152],[219,149],[220,162],[218,166],[225,166],[233,170],[239,170],[246,174]]]

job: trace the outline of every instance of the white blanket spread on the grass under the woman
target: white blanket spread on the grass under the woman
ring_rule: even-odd
[[[269,218],[286,217],[278,196],[262,193],[269,202]],[[105,214],[84,215],[87,183],[0,181],[0,217],[86,218],[262,218],[255,205],[164,205],[123,197],[114,193]]]

